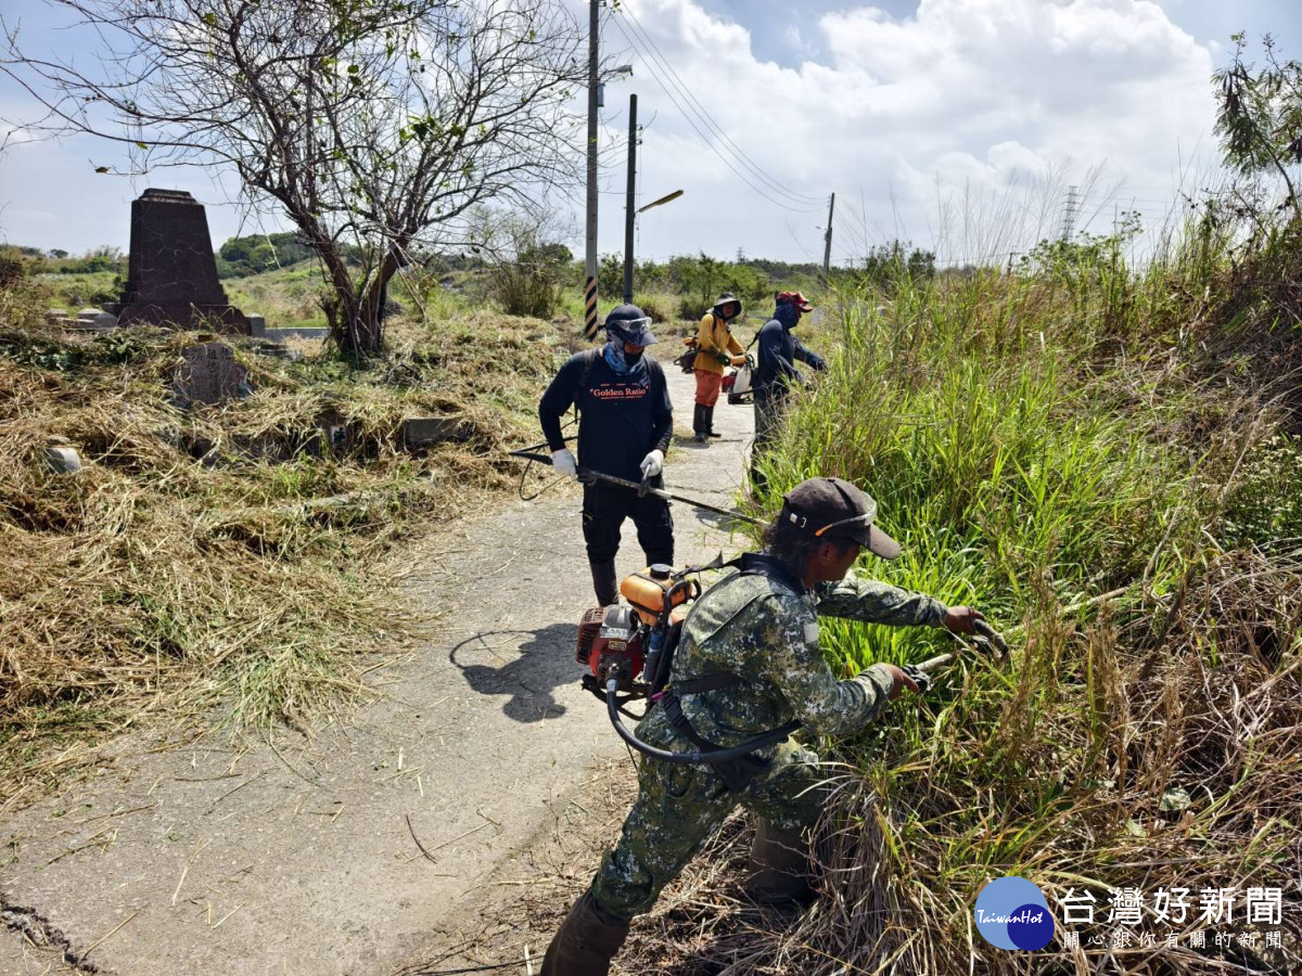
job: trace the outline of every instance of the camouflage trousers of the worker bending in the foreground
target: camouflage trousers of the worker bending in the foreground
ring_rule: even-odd
[[[690,751],[659,709],[638,727],[639,738],[672,751]],[[737,806],[783,830],[812,828],[823,812],[827,773],[819,757],[792,742],[764,750],[768,768],[741,793],[730,793],[707,765],[678,765],[643,756],[638,798],[615,850],[602,859],[592,894],[611,915],[630,920],[651,910],[660,890]]]

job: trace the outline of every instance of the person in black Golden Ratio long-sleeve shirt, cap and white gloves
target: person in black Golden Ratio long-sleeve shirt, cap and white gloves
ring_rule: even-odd
[[[644,350],[656,342],[651,319],[635,305],[605,318],[607,342],[578,353],[556,373],[538,405],[538,419],[552,450],[552,466],[575,475],[578,466],[663,488],[664,453],[673,436],[673,405],[660,364]],[[561,415],[578,405],[578,461],[561,436]],[[608,481],[583,485],[583,540],[592,587],[602,606],[618,599],[615,554],[620,526],[631,518],[648,563],[673,563],[669,504],[654,495]]]

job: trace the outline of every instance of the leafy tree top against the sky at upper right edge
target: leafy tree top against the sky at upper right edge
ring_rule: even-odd
[[[1245,176],[1276,173],[1288,191],[1285,204],[1302,220],[1289,172],[1289,165],[1302,163],[1302,64],[1281,60],[1267,35],[1262,42],[1266,64],[1258,68],[1243,60],[1245,35],[1236,34],[1233,40],[1233,61],[1215,75],[1221,92],[1216,133],[1225,159]]]

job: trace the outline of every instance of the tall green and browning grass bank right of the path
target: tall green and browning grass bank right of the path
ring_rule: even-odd
[[[1302,575],[1262,554],[1279,539],[1253,535],[1297,508],[1259,465],[1295,457],[1280,446],[1279,376],[1251,359],[1241,319],[1215,318],[1225,267],[1206,239],[1139,271],[1108,247],[1040,259],[840,295],[829,370],[763,462],[768,508],[812,475],[865,487],[904,545],[865,571],[974,604],[1014,645],[1009,662],[965,655],[887,724],[823,744],[858,770],[836,821],[837,908],[775,951],[802,972],[1302,971],[1187,940],[1074,953],[1061,923],[1029,959],[970,932],[976,894],[1004,874],[1051,904],[1090,888],[1100,920],[1122,885],[1195,901],[1282,885],[1286,945],[1302,924]],[[950,643],[837,621],[823,634],[842,674]],[[863,804],[876,816],[849,813]]]

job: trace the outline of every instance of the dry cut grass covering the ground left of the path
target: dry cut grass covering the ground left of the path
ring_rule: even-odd
[[[361,652],[410,625],[393,541],[513,484],[503,452],[568,353],[487,314],[396,321],[365,371],[230,340],[254,394],[181,410],[193,334],[51,331],[30,298],[0,295],[0,811],[161,704],[310,727],[361,694]],[[449,413],[462,440],[402,450],[404,419]],[[350,446],[314,455],[327,414]],[[79,474],[48,470],[49,436]]]

